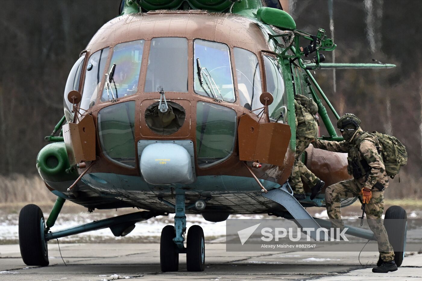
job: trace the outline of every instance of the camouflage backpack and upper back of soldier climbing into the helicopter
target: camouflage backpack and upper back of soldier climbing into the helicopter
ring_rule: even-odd
[[[295,114],[298,121],[296,137],[317,138],[318,137],[318,112],[317,104],[304,95],[295,96]]]

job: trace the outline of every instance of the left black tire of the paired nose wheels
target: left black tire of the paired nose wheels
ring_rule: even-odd
[[[160,266],[162,272],[179,270],[179,253],[173,238],[176,237],[173,225],[166,225],[161,231]]]

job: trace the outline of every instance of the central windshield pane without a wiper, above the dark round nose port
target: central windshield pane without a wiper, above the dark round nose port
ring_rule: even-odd
[[[148,57],[145,92],[187,92],[187,39],[178,37],[153,38]]]

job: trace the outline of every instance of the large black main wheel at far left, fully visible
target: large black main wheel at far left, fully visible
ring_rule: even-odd
[[[19,248],[26,265],[49,265],[45,221],[40,207],[26,205],[19,213]]]

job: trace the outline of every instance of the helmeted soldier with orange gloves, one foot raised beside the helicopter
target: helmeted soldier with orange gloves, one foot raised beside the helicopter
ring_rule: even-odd
[[[397,270],[394,262],[394,251],[388,240],[381,216],[384,212],[384,189],[388,186],[388,177],[381,155],[378,153],[379,142],[376,138],[360,128],[360,120],[355,115],[347,113],[337,123],[344,140],[315,140],[314,147],[335,152],[348,153],[348,172],[353,179],[341,181],[327,187],[325,190],[325,205],[328,217],[333,227],[344,228],[341,220],[341,198],[362,195],[368,225],[373,231],[382,259],[379,267],[373,272],[387,273]]]

